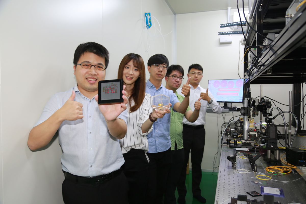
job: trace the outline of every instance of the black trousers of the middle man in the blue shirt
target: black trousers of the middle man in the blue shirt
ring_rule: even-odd
[[[167,177],[172,161],[171,148],[158,153],[147,153],[149,162],[149,183],[145,204],[161,204],[166,190]]]

